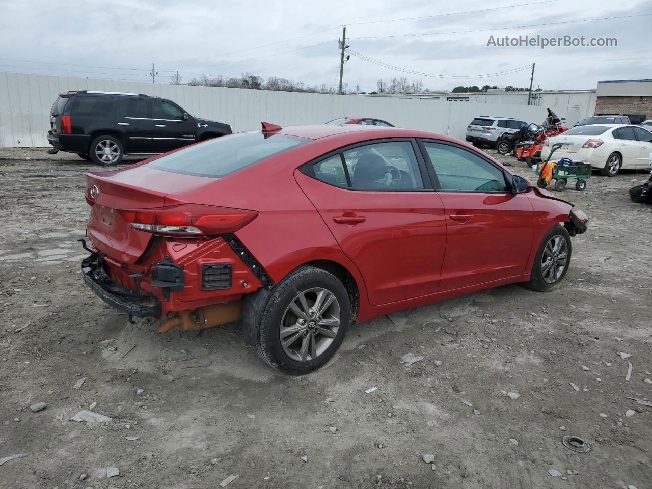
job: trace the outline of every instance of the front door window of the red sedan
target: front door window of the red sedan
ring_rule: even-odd
[[[424,142],[439,190],[457,192],[507,192],[503,172],[466,149]]]

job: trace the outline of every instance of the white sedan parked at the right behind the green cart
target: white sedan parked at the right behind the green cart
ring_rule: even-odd
[[[545,161],[552,145],[559,143],[562,146],[552,155],[552,161],[571,158],[590,163],[602,175],[613,177],[621,168],[649,168],[652,132],[626,124],[576,126],[546,139],[541,159]]]

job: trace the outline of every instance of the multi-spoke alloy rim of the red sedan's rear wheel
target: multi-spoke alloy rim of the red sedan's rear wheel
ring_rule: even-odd
[[[321,287],[297,294],[286,308],[279,330],[286,355],[299,362],[316,359],[333,343],[340,328],[340,303]]]

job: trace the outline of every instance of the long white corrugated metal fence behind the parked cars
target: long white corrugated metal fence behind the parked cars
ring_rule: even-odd
[[[234,132],[258,129],[261,121],[282,126],[323,124],[346,114],[378,117],[396,126],[464,139],[466,126],[476,115],[497,114],[536,123],[545,115],[541,107],[518,104],[465,104],[0,73],[0,147],[48,146],[50,108],[58,93],[74,90],[123,91],[169,98],[193,115],[230,124]],[[575,122],[570,118],[569,121]]]

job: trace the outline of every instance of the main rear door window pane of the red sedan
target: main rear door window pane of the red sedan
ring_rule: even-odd
[[[352,188],[359,190],[420,190],[419,164],[412,143],[375,143],[344,152]]]

